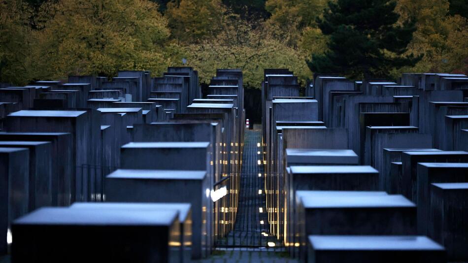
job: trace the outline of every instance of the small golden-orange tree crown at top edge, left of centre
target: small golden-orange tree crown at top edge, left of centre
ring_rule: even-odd
[[[165,15],[173,37],[188,44],[214,37],[222,29],[225,10],[221,0],[173,0]]]

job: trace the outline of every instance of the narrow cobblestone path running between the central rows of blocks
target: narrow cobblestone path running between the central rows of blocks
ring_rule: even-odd
[[[200,263],[297,262],[289,258],[281,243],[269,234],[264,168],[258,164],[261,160],[261,136],[259,130],[245,132],[239,210],[234,230],[226,238],[219,240],[213,254],[208,259],[198,261]],[[261,210],[263,211],[260,212]],[[275,244],[274,247],[268,246],[271,242]]]

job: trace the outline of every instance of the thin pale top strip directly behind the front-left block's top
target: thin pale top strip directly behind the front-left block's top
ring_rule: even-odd
[[[179,221],[183,222],[187,219],[190,212],[190,203],[90,203],[90,202],[75,202],[70,208],[72,209],[122,209],[122,210],[173,210],[179,211]]]

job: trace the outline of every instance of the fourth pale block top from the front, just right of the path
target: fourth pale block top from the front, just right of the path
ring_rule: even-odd
[[[378,173],[369,165],[298,165],[290,166],[293,174],[312,173]]]

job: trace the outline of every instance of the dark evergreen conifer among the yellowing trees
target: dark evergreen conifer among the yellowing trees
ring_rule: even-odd
[[[329,2],[319,28],[330,36],[329,51],[307,61],[314,72],[340,73],[351,78],[388,77],[391,70],[414,66],[420,56],[404,54],[416,30],[414,22],[398,23],[396,2],[337,0]]]

